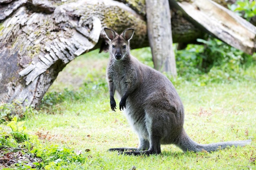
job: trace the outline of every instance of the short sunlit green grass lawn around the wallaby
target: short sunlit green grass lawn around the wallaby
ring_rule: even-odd
[[[132,54],[153,66],[148,48],[132,50]],[[107,151],[138,145],[122,111],[110,109],[107,62],[108,54],[97,51],[72,61],[50,87],[38,113],[26,118],[25,126],[43,146],[82,153],[82,163],[67,163],[62,169],[256,169],[255,66],[237,79],[218,83],[205,83],[200,75],[194,81],[172,79],[185,108],[184,128],[193,140],[207,144],[250,138],[251,145],[213,153],[182,153],[173,145],[162,145],[160,155],[147,157]],[[240,79],[244,76],[248,78]],[[54,169],[56,164],[52,161],[46,168]]]

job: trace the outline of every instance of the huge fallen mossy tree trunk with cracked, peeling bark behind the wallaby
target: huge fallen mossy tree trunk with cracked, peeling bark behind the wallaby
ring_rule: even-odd
[[[148,46],[144,0],[72,1],[0,0],[0,102],[38,106],[67,63],[90,50],[108,49],[104,27],[119,32],[133,27],[131,48]],[[172,9],[174,43],[204,37]]]

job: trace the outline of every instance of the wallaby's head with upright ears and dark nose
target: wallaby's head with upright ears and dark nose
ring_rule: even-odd
[[[104,31],[110,39],[109,52],[111,57],[115,57],[116,60],[121,60],[130,55],[129,40],[132,38],[134,33],[133,28],[126,29],[120,35],[109,28],[104,28]]]

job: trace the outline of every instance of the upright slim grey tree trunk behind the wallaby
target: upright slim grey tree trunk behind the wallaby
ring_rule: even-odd
[[[146,0],[146,11],[148,39],[155,69],[176,77],[169,2],[168,0]]]

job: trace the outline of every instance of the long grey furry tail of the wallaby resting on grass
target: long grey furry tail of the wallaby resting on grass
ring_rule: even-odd
[[[251,143],[251,140],[245,140],[245,141],[229,141],[229,142],[218,142],[213,144],[198,144],[194,142],[187,134],[186,132],[182,131],[182,134],[180,135],[176,145],[180,147],[184,152],[186,151],[195,151],[200,152],[203,150],[206,150],[207,152],[216,151],[218,149],[224,149],[229,146],[245,146]]]

